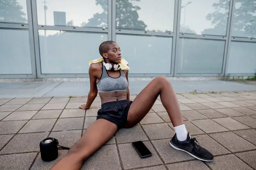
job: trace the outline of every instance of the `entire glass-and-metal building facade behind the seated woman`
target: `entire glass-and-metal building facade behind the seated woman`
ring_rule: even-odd
[[[0,0],[0,78],[88,77],[113,40],[130,77],[256,73],[256,0]]]

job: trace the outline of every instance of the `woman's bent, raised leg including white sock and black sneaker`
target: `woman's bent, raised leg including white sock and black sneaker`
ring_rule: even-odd
[[[187,152],[189,155],[199,160],[212,161],[212,153],[199,146],[195,138],[191,138],[190,135],[188,135],[183,123],[177,97],[172,89],[171,83],[163,76],[152,80],[134,99],[128,111],[126,128],[136,125],[145,117],[155,103],[158,95],[160,95],[162,104],[176,132],[170,141],[170,145],[174,149]]]

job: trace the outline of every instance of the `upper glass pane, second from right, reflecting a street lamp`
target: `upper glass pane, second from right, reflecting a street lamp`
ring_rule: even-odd
[[[229,0],[182,0],[180,32],[226,35]]]

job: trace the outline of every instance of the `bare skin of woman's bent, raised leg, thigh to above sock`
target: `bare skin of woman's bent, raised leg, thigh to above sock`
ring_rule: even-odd
[[[134,99],[128,111],[126,127],[139,123],[152,108],[159,95],[173,126],[183,125],[180,105],[171,83],[167,78],[159,76],[152,80]]]

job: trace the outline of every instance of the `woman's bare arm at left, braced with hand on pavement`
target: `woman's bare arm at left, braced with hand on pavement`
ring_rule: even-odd
[[[98,94],[98,89],[96,86],[97,73],[98,73],[98,65],[92,64],[89,68],[89,77],[90,77],[90,92],[88,93],[88,98],[86,104],[81,105],[79,108],[81,109],[89,109],[94,99]]]

